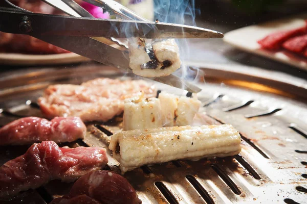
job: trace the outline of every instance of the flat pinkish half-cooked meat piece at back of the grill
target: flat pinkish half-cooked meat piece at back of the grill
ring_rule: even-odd
[[[38,103],[48,118],[75,116],[82,121],[107,121],[122,113],[125,98],[141,91],[145,97],[157,94],[156,88],[143,80],[98,78],[81,85],[51,85]]]

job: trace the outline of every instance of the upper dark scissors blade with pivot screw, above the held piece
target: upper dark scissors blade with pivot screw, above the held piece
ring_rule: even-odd
[[[19,31],[18,24],[27,16],[32,31]],[[115,20],[80,18],[37,13],[0,12],[0,30],[7,33],[39,34],[56,36],[90,37],[142,37],[142,38],[222,38],[217,31],[189,25],[148,22],[137,20]],[[12,26],[16,25],[16,26]]]

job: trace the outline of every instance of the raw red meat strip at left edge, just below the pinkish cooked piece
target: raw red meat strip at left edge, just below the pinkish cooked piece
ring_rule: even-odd
[[[55,117],[51,121],[38,117],[20,118],[0,129],[1,145],[23,145],[52,140],[72,142],[83,138],[86,126],[78,117]]]

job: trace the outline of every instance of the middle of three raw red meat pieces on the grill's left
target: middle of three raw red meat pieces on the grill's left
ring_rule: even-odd
[[[104,148],[60,148],[53,141],[33,144],[24,155],[0,167],[0,198],[35,189],[50,180],[73,182],[107,163]]]

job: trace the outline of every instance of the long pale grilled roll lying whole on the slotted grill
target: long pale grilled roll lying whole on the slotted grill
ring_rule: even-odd
[[[109,149],[124,173],[146,164],[232,156],[241,147],[239,133],[223,124],[122,131],[112,136]]]

